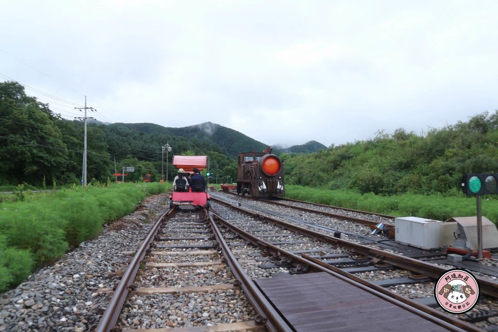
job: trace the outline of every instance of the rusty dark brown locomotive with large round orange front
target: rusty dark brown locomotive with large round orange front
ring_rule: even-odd
[[[239,153],[237,194],[258,198],[285,195],[283,164],[271,150],[270,146],[262,153]]]

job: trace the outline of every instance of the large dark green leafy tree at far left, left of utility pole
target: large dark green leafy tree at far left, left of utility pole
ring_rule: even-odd
[[[15,82],[0,83],[0,161],[2,183],[41,186],[64,171],[67,147],[56,125],[60,119],[46,104],[26,96]]]

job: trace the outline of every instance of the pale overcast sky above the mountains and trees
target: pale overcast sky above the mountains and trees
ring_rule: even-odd
[[[86,95],[102,122],[339,145],[497,110],[497,18],[496,0],[0,0],[0,80],[66,118]]]

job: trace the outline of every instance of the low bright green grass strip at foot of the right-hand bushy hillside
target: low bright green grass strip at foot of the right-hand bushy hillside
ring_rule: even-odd
[[[346,190],[329,190],[286,185],[285,197],[318,204],[392,215],[446,221],[452,217],[476,216],[476,198],[442,195],[403,194],[381,196]],[[498,200],[482,199],[482,215],[495,224],[498,221]]]

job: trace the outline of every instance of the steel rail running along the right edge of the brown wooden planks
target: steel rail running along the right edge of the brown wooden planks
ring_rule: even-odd
[[[231,208],[236,208],[231,206]],[[361,280],[358,277],[353,276],[348,272],[341,271],[338,273],[338,268],[333,266],[327,266],[326,263],[320,262],[318,264],[315,259],[307,259],[305,255],[298,256],[293,254],[292,252],[281,249],[269,242],[266,242],[262,239],[257,238],[256,236],[244,231],[243,229],[237,227],[236,225],[226,221],[221,216],[214,214],[217,221],[222,223],[225,227],[232,230],[234,233],[238,234],[240,237],[249,241],[253,245],[267,251],[272,252],[273,256],[280,257],[284,262],[296,266],[298,270],[301,271],[310,271],[310,272],[326,272],[328,274],[333,275],[340,280],[343,280],[355,287],[358,287],[364,291],[367,291],[385,301],[388,301],[406,311],[409,311],[417,316],[422,317],[425,320],[428,320],[434,324],[437,324],[449,331],[483,331],[472,324],[461,321],[457,318],[451,317],[449,315],[445,315],[442,312],[439,312],[430,307],[421,305],[409,298],[402,297],[388,289],[384,289],[381,286],[374,285],[366,280]],[[311,258],[311,257],[310,257]],[[361,280],[361,282],[360,282]]]

